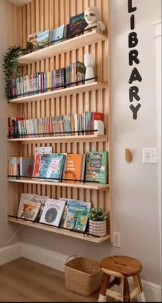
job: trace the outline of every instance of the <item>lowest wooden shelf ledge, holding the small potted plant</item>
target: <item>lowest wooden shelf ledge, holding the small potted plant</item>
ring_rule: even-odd
[[[51,226],[47,226],[45,224],[19,221],[19,220],[16,220],[16,218],[11,218],[9,216],[8,216],[8,222],[21,224],[21,225],[25,225],[27,227],[32,227],[32,228],[36,228],[36,229],[42,229],[44,231],[51,231],[53,233],[58,233],[59,235],[62,235],[62,236],[69,236],[69,237],[72,237],[72,238],[78,238],[80,240],[85,240],[85,241],[89,241],[89,242],[101,243],[101,242],[104,242],[104,241],[110,239],[110,235],[106,235],[106,236],[101,237],[101,238],[88,236],[88,235],[84,236],[81,233],[76,233],[76,232],[67,231],[67,230],[65,231],[64,229],[58,229],[57,227],[51,227]]]

